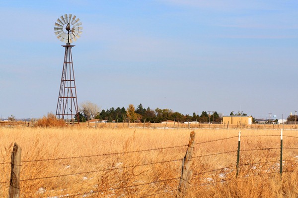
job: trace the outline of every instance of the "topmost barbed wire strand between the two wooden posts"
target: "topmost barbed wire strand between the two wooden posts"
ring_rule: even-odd
[[[22,163],[36,162],[36,161],[61,160],[61,159],[75,159],[75,158],[84,158],[84,157],[97,157],[97,156],[106,156],[106,155],[117,155],[117,154],[126,154],[126,153],[134,153],[134,152],[144,152],[144,151],[151,151],[151,150],[162,150],[162,149],[168,149],[168,148],[179,148],[179,147],[186,147],[186,146],[187,145],[174,146],[174,147],[164,147],[164,148],[151,148],[151,149],[134,150],[134,151],[127,151],[127,152],[105,153],[105,154],[97,154],[97,155],[86,155],[86,156],[75,156],[75,157],[61,157],[61,158],[50,158],[50,159],[26,160],[26,161],[22,161]]]

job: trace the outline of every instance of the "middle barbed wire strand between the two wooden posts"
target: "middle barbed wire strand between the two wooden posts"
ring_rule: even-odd
[[[102,171],[112,171],[112,170],[117,170],[117,169],[134,168],[134,167],[139,167],[139,166],[147,166],[147,165],[152,165],[152,164],[166,163],[166,162],[180,161],[180,160],[182,160],[182,158],[179,158],[179,159],[173,159],[173,160],[167,160],[167,161],[160,161],[160,162],[147,163],[147,164],[140,164],[140,165],[134,165],[134,166],[116,167],[116,168],[109,168],[109,169],[102,169],[102,170],[94,170],[94,171],[87,171],[87,172],[79,172],[79,173],[72,173],[72,174],[64,174],[64,175],[55,175],[55,176],[48,176],[48,177],[39,177],[39,178],[23,179],[23,180],[20,180],[20,181],[25,182],[25,181],[40,180],[40,179],[49,179],[49,178],[55,178],[55,177],[66,177],[66,176],[71,176],[71,175],[81,175],[81,174],[95,173],[95,172],[102,172]]]

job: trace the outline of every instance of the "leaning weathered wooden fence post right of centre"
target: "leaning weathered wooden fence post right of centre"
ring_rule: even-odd
[[[188,184],[190,183],[190,179],[192,177],[192,171],[190,170],[190,163],[192,159],[192,154],[195,146],[195,132],[192,131],[190,133],[189,143],[186,150],[186,154],[182,159],[182,170],[181,170],[181,177],[180,183],[178,187],[178,194],[177,198],[183,198],[185,195],[185,191],[187,189]]]

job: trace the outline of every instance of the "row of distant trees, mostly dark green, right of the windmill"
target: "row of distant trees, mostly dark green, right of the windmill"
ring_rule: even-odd
[[[192,115],[182,114],[171,109],[160,109],[155,108],[154,110],[150,107],[144,108],[142,103],[140,103],[137,108],[133,104],[130,104],[128,108],[124,107],[111,107],[106,110],[98,110],[98,106],[91,102],[87,102],[88,105],[82,104],[78,117],[80,122],[86,122],[90,119],[107,120],[107,122],[151,122],[160,123],[162,121],[172,120],[178,122],[186,121],[197,121],[197,122],[221,122],[222,117],[217,111],[202,111],[201,115],[195,112]],[[77,120],[77,116],[75,116]]]

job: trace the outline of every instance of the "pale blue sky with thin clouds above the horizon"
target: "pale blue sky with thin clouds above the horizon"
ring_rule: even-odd
[[[183,114],[298,110],[298,1],[0,0],[0,114],[56,112],[64,48],[58,17],[80,18],[78,103]]]

